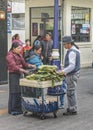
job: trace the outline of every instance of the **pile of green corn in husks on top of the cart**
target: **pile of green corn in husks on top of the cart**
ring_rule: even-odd
[[[64,76],[63,73],[59,74],[56,71],[57,66],[51,66],[51,65],[42,65],[38,68],[38,71],[35,74],[31,74],[26,76],[28,80],[38,80],[38,81],[46,81],[46,80],[52,80],[52,83],[54,82],[60,82],[62,81],[62,78]],[[52,85],[53,85],[52,84]]]

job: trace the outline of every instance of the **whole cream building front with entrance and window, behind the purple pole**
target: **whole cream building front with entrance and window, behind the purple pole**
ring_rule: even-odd
[[[58,21],[59,43],[63,35],[72,35],[80,48],[81,67],[92,66],[93,1],[59,0]],[[26,0],[25,23],[25,37],[31,38],[32,43],[38,35],[53,32],[54,0]]]

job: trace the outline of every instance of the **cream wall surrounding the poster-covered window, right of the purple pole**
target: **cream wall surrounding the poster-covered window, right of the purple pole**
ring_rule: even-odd
[[[90,1],[91,0],[65,0],[64,7],[65,35],[71,35],[71,6],[91,8],[91,40],[90,42],[76,43],[81,52],[81,67],[91,66],[93,60],[93,1]]]

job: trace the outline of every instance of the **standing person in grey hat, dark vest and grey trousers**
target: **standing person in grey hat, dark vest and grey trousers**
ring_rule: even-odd
[[[63,115],[76,115],[77,114],[77,99],[76,99],[76,86],[80,70],[80,52],[74,44],[70,36],[62,38],[63,46],[67,49],[64,61],[64,69],[62,70],[66,75],[67,83],[67,100],[68,108]],[[61,73],[61,71],[59,71]]]

